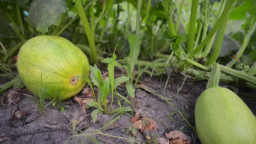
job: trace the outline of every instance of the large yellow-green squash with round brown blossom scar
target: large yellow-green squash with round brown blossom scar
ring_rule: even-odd
[[[48,100],[66,100],[79,93],[85,86],[81,76],[89,74],[88,59],[79,48],[65,38],[47,35],[22,45],[17,68],[29,91],[40,96],[45,89]]]

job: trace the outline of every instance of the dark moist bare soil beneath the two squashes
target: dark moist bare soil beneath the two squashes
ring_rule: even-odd
[[[189,120],[192,125],[195,125],[194,109],[197,97],[205,89],[206,81],[193,81],[187,78],[183,87],[177,95],[178,88],[182,85],[184,76],[181,74],[172,74],[168,85],[166,87],[164,96],[173,98],[171,101],[178,110]],[[148,77],[141,78],[142,83],[147,85],[156,93],[163,94],[163,88],[166,76],[163,77]],[[221,85],[227,87],[227,85]],[[230,87],[229,87],[230,88]],[[127,96],[125,87],[119,87],[118,90],[123,96]],[[253,93],[255,91],[242,89],[243,95]],[[64,112],[52,107],[52,105],[44,109],[44,113],[39,114],[37,105],[28,96],[21,95],[21,93],[29,94],[27,89],[11,89],[4,95],[0,96],[0,143],[1,144],[62,144],[62,143],[86,143],[91,144],[92,138],[104,144],[127,144],[130,141],[135,143],[144,143],[146,138],[160,139],[165,136],[165,133],[170,131],[180,130],[192,138],[192,143],[199,144],[199,139],[195,131],[193,131],[186,121],[179,113],[171,115],[174,121],[171,121],[169,114],[176,111],[166,101],[159,99],[152,93],[148,93],[143,89],[136,90],[136,97],[129,99],[133,109],[142,109],[142,117],[151,118],[156,122],[157,127],[154,131],[132,131],[132,124],[130,122],[131,116],[121,115],[121,117],[107,126],[102,133],[107,133],[113,136],[120,136],[121,138],[114,138],[107,135],[97,134],[86,136],[72,137],[72,135],[95,133],[95,131],[111,121],[112,115],[99,114],[96,123],[92,122],[91,112],[94,108],[87,109],[87,114],[81,113],[81,107],[74,101],[69,99],[63,102],[64,106],[68,106]],[[82,94],[78,94],[82,96]],[[253,113],[256,113],[255,101],[242,96],[242,99],[251,108]],[[109,101],[111,96],[109,95]],[[47,104],[49,101],[45,101]],[[121,101],[123,104],[123,101]],[[126,104],[125,106],[128,106]],[[112,109],[118,108],[115,100]],[[130,113],[131,114],[131,113]],[[135,113],[134,113],[135,114]],[[111,119],[112,118],[112,119]],[[115,118],[115,117],[114,117]],[[76,121],[76,128],[80,131],[74,131],[74,121]],[[133,135],[135,134],[135,135]],[[91,140],[90,140],[91,139]],[[152,142],[151,142],[152,143]]]

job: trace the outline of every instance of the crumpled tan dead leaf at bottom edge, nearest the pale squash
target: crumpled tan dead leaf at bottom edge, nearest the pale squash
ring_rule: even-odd
[[[171,140],[170,144],[191,144],[191,138],[181,131],[165,133],[165,137]]]

